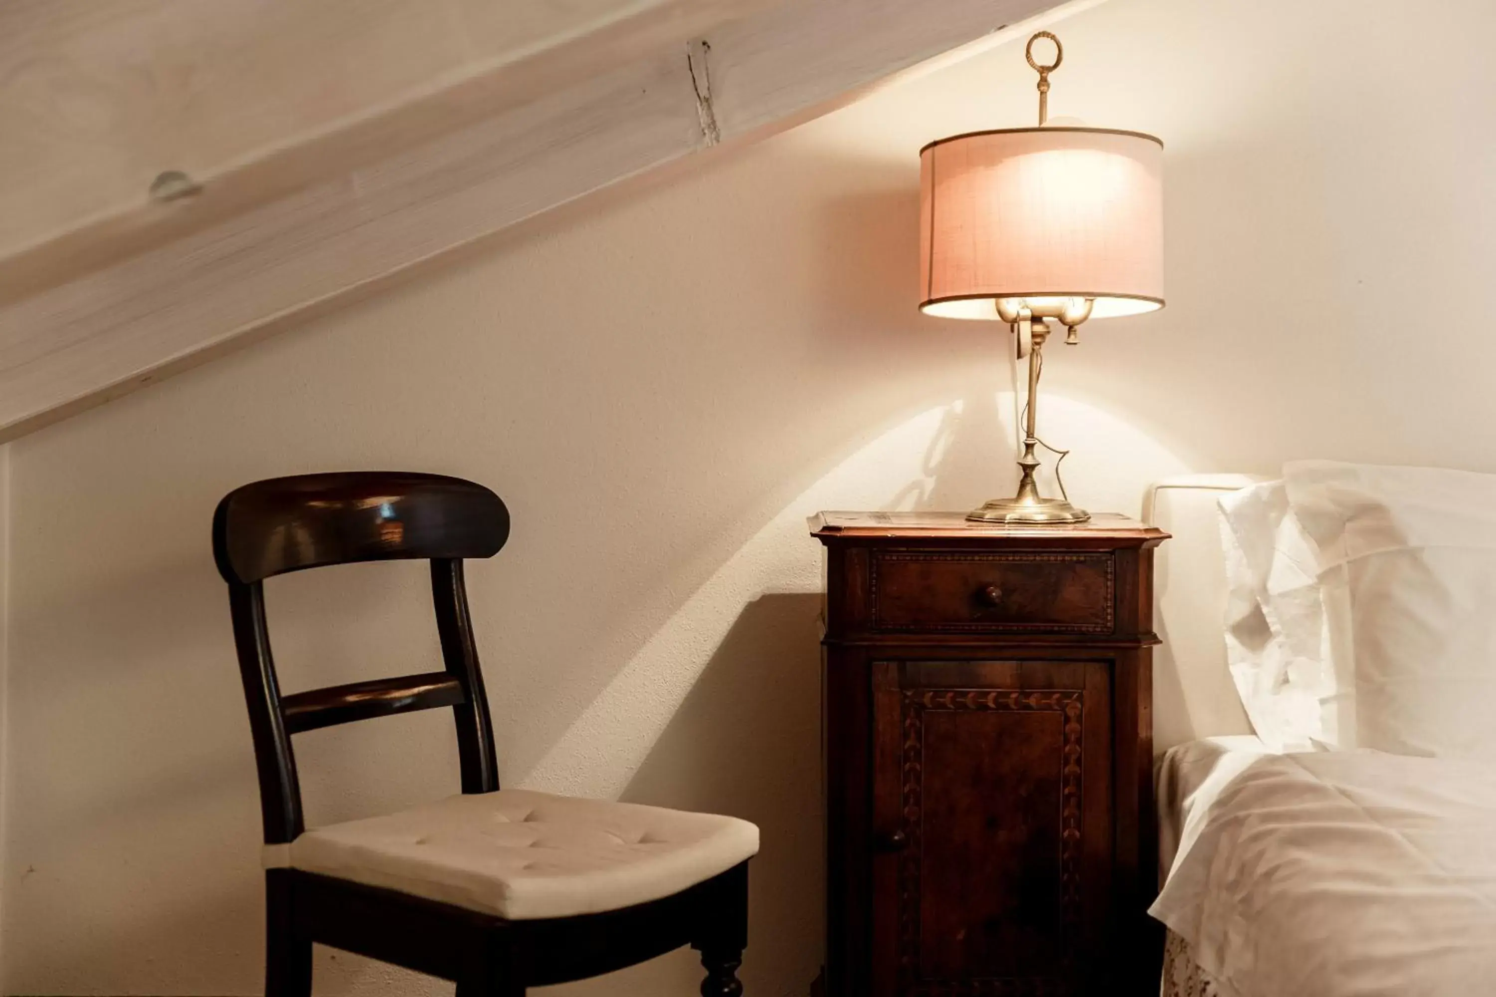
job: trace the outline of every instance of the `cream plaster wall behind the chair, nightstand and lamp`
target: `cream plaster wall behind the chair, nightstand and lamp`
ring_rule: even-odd
[[[1167,143],[1168,308],[1049,365],[1073,495],[1137,511],[1153,478],[1296,456],[1496,469],[1496,9],[1113,0],[1059,33],[1053,112]],[[803,996],[803,516],[1011,487],[1007,333],[914,312],[916,151],[1032,114],[1005,46],[12,444],[4,993],[257,993],[254,768],[209,514],[254,478],[386,466],[513,511],[470,571],[506,782],[758,821],[748,993]],[[292,689],[435,667],[417,567],[269,598]],[[302,737],[311,819],[455,791],[452,740],[437,713]],[[320,994],[440,991],[328,952],[319,973]],[[678,955],[570,993],[694,978]]]

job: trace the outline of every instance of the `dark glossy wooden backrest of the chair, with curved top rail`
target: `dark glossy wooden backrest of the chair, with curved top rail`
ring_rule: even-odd
[[[290,735],[319,726],[452,707],[462,792],[498,789],[462,561],[492,558],[506,540],[509,510],[497,495],[437,474],[302,474],[254,481],[223,496],[212,516],[212,556],[229,583],[268,845],[290,842],[305,830]],[[446,670],[283,697],[265,623],[265,578],[392,559],[431,561]]]

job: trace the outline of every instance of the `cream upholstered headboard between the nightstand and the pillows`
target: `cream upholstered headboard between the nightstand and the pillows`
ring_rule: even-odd
[[[1263,478],[1191,474],[1159,481],[1143,520],[1173,534],[1155,555],[1153,749],[1218,734],[1251,734],[1225,664],[1225,559],[1216,499]]]

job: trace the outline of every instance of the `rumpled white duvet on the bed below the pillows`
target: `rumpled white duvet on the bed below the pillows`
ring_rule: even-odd
[[[1189,801],[1152,909],[1225,997],[1496,994],[1496,767],[1370,750],[1231,767]]]

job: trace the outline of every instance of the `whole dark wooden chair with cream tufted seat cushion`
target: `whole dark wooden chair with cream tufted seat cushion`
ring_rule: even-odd
[[[230,492],[212,520],[229,583],[265,818],[266,981],[311,993],[320,942],[455,981],[464,997],[607,973],[691,945],[702,994],[742,993],[748,858],[733,818],[501,791],[462,578],[509,511],[488,489],[431,474],[310,474]],[[263,581],[358,561],[431,561],[444,671],[281,695]],[[450,707],[462,795],[307,831],[292,734]]]

